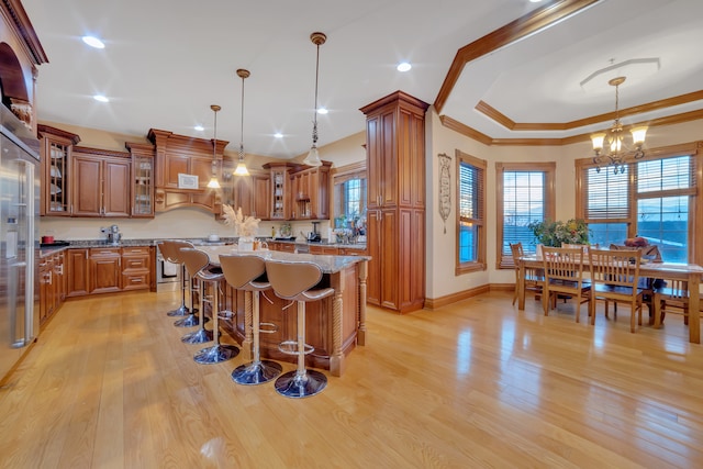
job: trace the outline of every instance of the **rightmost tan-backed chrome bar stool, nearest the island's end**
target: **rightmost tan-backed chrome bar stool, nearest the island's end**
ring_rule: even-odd
[[[315,395],[327,386],[327,377],[305,369],[305,355],[314,350],[305,344],[305,303],[330,297],[334,289],[319,287],[322,270],[312,263],[267,260],[266,273],[277,297],[298,302],[298,338],[278,346],[283,354],[298,355],[298,367],[278,377],[274,384],[276,391],[287,398]]]

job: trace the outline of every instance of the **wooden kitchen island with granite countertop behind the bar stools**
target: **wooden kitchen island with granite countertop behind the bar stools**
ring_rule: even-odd
[[[254,254],[267,259],[311,261],[320,266],[322,282],[335,290],[334,295],[306,304],[305,342],[315,349],[305,357],[306,365],[328,369],[333,376],[342,376],[346,356],[357,345],[366,344],[366,278],[367,256],[331,256],[290,254],[272,250],[238,253],[232,246],[198,246],[210,256],[213,265],[220,264],[220,255]],[[221,309],[231,311],[230,321],[221,321],[221,327],[242,345],[242,353],[249,358],[252,337],[252,293],[237,291],[223,282]],[[276,325],[269,334],[261,334],[261,357],[294,362],[295,357],[282,354],[278,344],[295,337],[295,306],[278,298],[272,290],[260,295],[260,321]]]

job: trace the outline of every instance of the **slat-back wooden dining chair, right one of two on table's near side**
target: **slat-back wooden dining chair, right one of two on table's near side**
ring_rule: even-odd
[[[591,271],[591,304],[595,310],[595,302],[604,300],[606,303],[628,303],[631,309],[629,330],[636,331],[641,326],[641,306],[646,289],[639,286],[639,264],[641,252],[589,249],[589,268]],[[615,316],[617,319],[617,316]],[[591,324],[595,322],[595,314],[591,316]]]

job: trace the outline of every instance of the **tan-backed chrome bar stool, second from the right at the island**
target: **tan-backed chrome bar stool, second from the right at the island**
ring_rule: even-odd
[[[271,288],[266,278],[266,261],[252,255],[220,255],[220,266],[228,284],[237,290],[252,292],[253,360],[235,368],[232,379],[238,384],[260,384],[270,381],[280,375],[283,368],[276,361],[260,359],[260,334],[270,334],[278,330],[272,323],[259,322],[259,293]],[[261,326],[266,328],[261,330]]]

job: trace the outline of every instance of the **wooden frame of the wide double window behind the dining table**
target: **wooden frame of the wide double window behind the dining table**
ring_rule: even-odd
[[[621,220],[621,222],[627,224],[627,237],[636,236],[637,234],[637,202],[640,199],[651,199],[657,197],[665,197],[668,194],[673,194],[672,191],[663,191],[663,192],[644,192],[641,197],[637,193],[637,178],[636,178],[636,165],[639,161],[649,161],[649,160],[659,160],[665,158],[674,158],[678,156],[690,156],[693,158],[694,165],[694,185],[695,189],[691,190],[682,190],[681,192],[688,192],[690,197],[689,203],[689,233],[688,237],[691,241],[688,246],[688,258],[689,263],[701,265],[703,263],[703,238],[700,236],[695,236],[696,233],[701,233],[703,231],[703,141],[684,143],[680,145],[670,145],[658,148],[649,148],[646,150],[645,156],[640,159],[633,160],[632,158],[627,160],[628,165],[628,174],[629,174],[629,189],[628,192],[631,194],[629,201],[631,206],[628,210],[629,216],[627,219]],[[585,187],[588,181],[585,180],[587,169],[594,168],[596,165],[593,164],[593,158],[581,158],[574,161],[576,166],[576,215],[577,217],[584,219],[587,223],[598,223],[590,222],[585,219],[585,204],[583,199],[582,188]],[[601,165],[602,166],[602,165]],[[609,168],[603,168],[601,170],[610,170]]]

